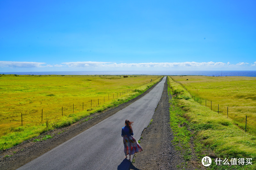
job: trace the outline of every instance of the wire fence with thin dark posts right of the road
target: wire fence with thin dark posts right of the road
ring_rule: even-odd
[[[172,78],[172,77],[171,77]],[[198,96],[193,95],[188,88],[183,85],[180,81],[176,81],[172,78],[172,80],[176,83],[179,83],[191,96],[194,101],[199,103],[200,105],[203,105],[205,107],[210,108],[212,111],[217,112],[218,114],[221,115],[227,115],[227,118],[231,118],[235,120],[235,123],[237,126],[239,126],[241,129],[244,129],[246,131],[250,131],[252,133],[256,134],[256,127],[255,125],[255,118],[252,117],[252,115],[242,115],[239,112],[235,111],[233,108],[234,107],[228,107],[225,103],[219,103],[216,101],[212,100],[206,100],[203,98],[200,98]]]

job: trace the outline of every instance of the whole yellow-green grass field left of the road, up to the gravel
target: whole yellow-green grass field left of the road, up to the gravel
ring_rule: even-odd
[[[159,80],[138,75],[1,75],[0,149],[115,107]]]

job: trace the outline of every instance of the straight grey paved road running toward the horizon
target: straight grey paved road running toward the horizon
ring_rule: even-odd
[[[129,169],[131,162],[124,159],[121,128],[125,119],[133,121],[133,137],[140,139],[161,99],[165,81],[166,77],[128,107],[18,169]]]

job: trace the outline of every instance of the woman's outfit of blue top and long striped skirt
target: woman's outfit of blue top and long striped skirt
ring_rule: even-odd
[[[133,155],[134,153],[138,153],[143,151],[140,144],[136,141],[133,135],[133,133],[127,132],[127,126],[122,128],[122,136],[124,141],[124,154],[125,155]],[[129,129],[129,128],[128,128]]]

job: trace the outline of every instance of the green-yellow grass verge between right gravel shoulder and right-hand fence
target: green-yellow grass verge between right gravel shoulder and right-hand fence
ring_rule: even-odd
[[[201,160],[204,156],[212,158],[207,168],[215,169],[256,169],[256,137],[245,133],[234,124],[234,120],[211,111],[191,99],[189,93],[181,85],[168,77],[168,93],[170,101],[170,125],[174,134],[172,143],[183,153],[185,166],[193,157],[198,169],[206,169]],[[192,152],[193,150],[193,152]],[[209,155],[212,150],[214,153]],[[192,154],[194,153],[194,154]],[[216,158],[252,158],[252,165],[216,165]],[[218,163],[219,164],[219,163]],[[237,162],[238,164],[238,162]],[[180,168],[180,167],[177,167]]]

